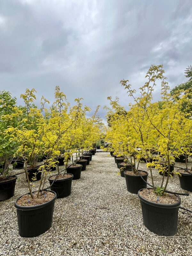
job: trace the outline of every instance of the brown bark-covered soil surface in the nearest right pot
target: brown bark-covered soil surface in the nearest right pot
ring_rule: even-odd
[[[159,196],[159,201],[157,201],[158,195],[153,192],[153,189],[144,188],[139,194],[146,200],[157,204],[175,204],[179,201],[177,196],[169,193],[164,193],[163,196]]]

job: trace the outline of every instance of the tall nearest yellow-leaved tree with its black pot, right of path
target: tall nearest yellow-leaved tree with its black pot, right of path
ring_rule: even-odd
[[[150,162],[148,148],[149,144],[143,145],[150,170],[152,188],[144,188],[138,192],[140,203],[142,206],[144,225],[152,232],[161,236],[172,236],[177,232],[178,210],[180,206],[180,197],[172,193],[165,193],[170,179],[170,166],[174,162],[173,148],[175,140],[175,131],[180,123],[183,114],[181,113],[182,100],[172,98],[169,94],[169,86],[164,76],[163,65],[151,66],[147,72],[148,81],[140,88],[140,97],[134,95],[135,90],[131,89],[131,85],[127,84],[128,80],[122,80],[121,84],[128,90],[130,96],[135,101],[135,106],[143,113],[143,118],[139,118],[137,123],[143,124],[150,134],[155,134],[159,151],[163,154],[165,162],[168,166],[167,177],[165,172],[162,176],[160,186],[155,186],[152,166],[160,171],[162,167],[159,161]],[[161,80],[162,108],[158,108],[157,103],[151,103],[152,92],[156,85],[156,81]],[[142,117],[142,116],[141,116]],[[152,136],[153,137],[153,136]],[[164,170],[163,170],[164,171]],[[177,173],[177,172],[176,172]]]

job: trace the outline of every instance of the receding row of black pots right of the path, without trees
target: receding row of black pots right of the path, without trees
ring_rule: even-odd
[[[180,197],[177,197],[177,202],[172,204],[161,204],[150,201],[144,198],[141,194],[144,189],[152,191],[152,188],[147,188],[148,172],[138,170],[138,174],[132,172],[132,167],[129,163],[124,162],[124,157],[114,156],[117,168],[120,169],[121,177],[125,178],[127,191],[133,194],[138,194],[142,208],[143,223],[152,232],[160,236],[173,236],[177,232],[178,211],[181,204]],[[174,170],[174,165],[170,171]],[[182,170],[181,170],[182,171]],[[179,170],[178,170],[179,172]],[[180,172],[179,180],[181,188],[192,192],[192,174]],[[159,197],[157,196],[157,200]]]

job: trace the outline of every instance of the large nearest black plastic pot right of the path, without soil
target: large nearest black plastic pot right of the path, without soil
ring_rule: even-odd
[[[138,192],[138,197],[145,227],[159,236],[175,235],[177,233],[178,210],[181,204],[180,197],[175,195],[179,199],[175,204],[158,204],[143,198],[140,195],[140,191]]]

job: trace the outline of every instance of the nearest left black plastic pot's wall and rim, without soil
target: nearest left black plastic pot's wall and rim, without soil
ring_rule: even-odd
[[[52,226],[53,208],[57,198],[54,191],[54,198],[44,204],[34,206],[21,206],[15,201],[17,209],[17,220],[19,226],[19,234],[22,237],[35,237],[43,234]],[[30,195],[29,195],[30,196]]]

